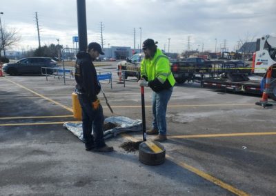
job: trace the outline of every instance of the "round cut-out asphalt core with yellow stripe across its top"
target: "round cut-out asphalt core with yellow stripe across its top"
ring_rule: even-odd
[[[139,145],[139,161],[142,164],[156,166],[163,164],[166,150],[157,141],[144,141]]]

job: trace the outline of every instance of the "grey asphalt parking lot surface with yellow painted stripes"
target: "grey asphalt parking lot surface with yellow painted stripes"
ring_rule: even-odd
[[[131,79],[130,79],[131,80]],[[141,119],[133,78],[102,83],[106,117]],[[43,76],[0,77],[0,195],[275,195],[275,108],[260,97],[181,84],[168,104],[166,161],[146,166],[119,146],[142,139],[127,133],[106,140],[113,153],[92,153],[63,128],[72,116],[75,81]],[[146,126],[151,90],[146,88]],[[151,139],[148,136],[148,139]]]

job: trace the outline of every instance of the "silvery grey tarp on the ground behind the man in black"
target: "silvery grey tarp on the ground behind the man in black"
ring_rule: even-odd
[[[104,123],[112,123],[118,124],[119,126],[106,130],[103,132],[104,139],[109,137],[115,137],[120,133],[126,133],[129,131],[141,131],[142,130],[142,122],[139,119],[130,119],[128,117],[108,117],[104,119]],[[82,123],[72,123],[66,122],[63,124],[70,132],[72,132],[75,136],[79,137],[81,141],[83,141],[83,134],[82,134]]]

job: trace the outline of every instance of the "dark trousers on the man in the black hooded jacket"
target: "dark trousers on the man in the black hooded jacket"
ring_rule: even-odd
[[[79,104],[81,104],[82,115],[82,131],[83,141],[86,148],[95,145],[97,148],[105,146],[103,140],[103,108],[99,104],[99,108],[94,110],[92,108],[92,101],[87,95],[78,94]],[[93,130],[93,135],[92,134]]]

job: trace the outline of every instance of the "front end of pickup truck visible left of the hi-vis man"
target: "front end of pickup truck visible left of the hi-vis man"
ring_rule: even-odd
[[[121,77],[127,79],[128,77],[137,77],[140,79],[140,63],[144,59],[144,53],[138,53],[118,63],[117,70],[126,70],[121,72]],[[117,72],[120,74],[119,71]]]

